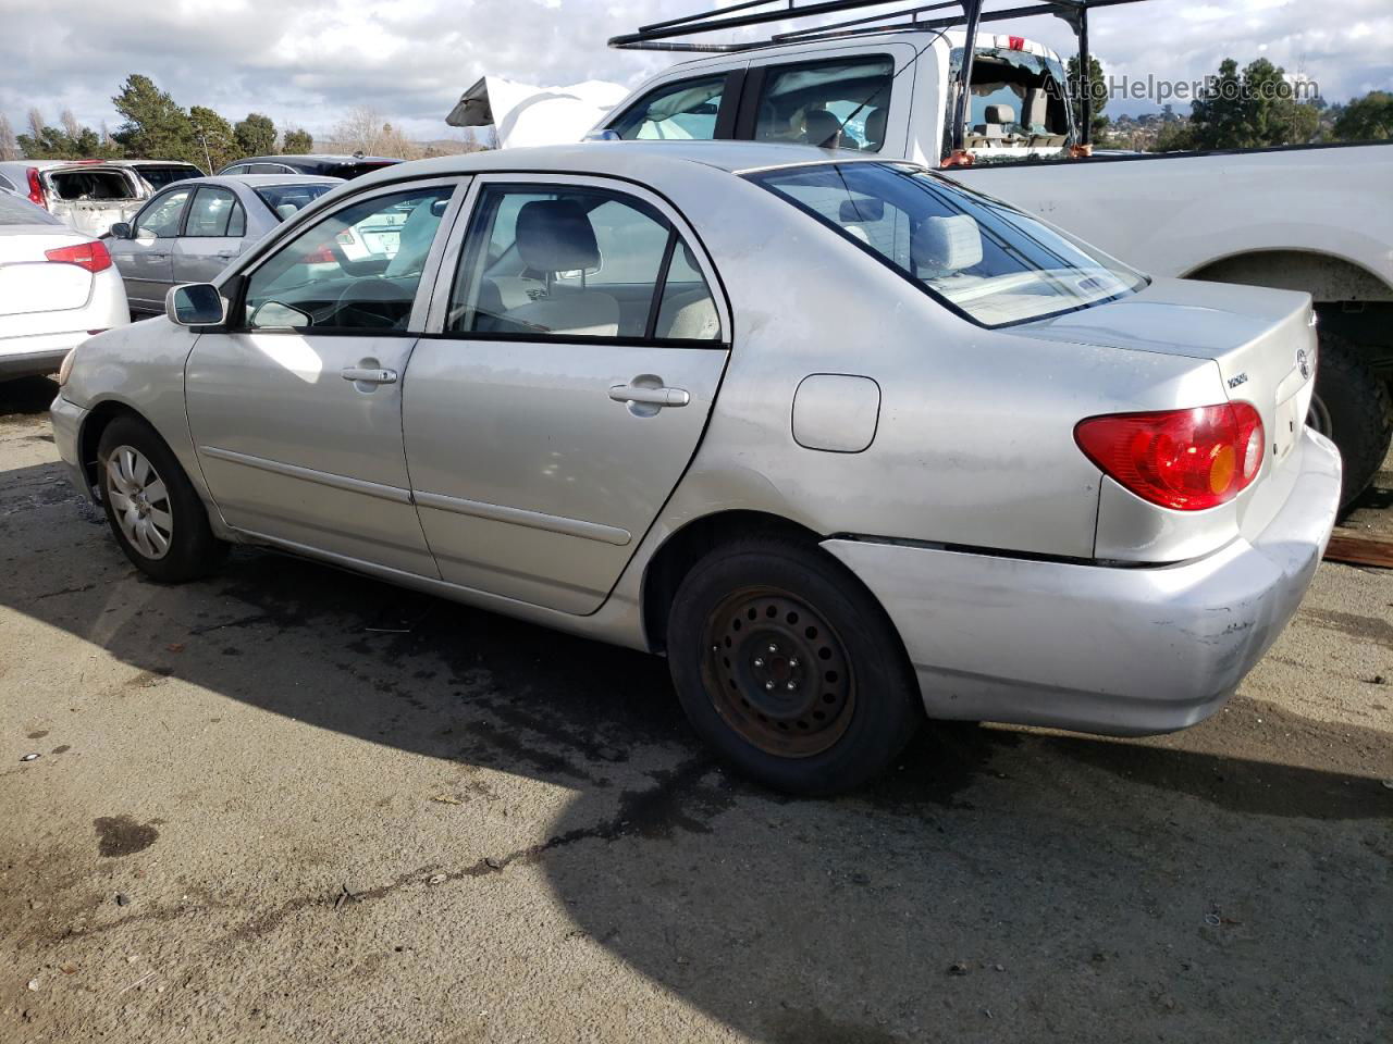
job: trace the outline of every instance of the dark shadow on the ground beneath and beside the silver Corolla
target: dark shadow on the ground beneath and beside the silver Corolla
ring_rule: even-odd
[[[1387,792],[1237,713],[1201,727],[1234,756],[943,725],[861,793],[790,800],[712,761],[656,657],[254,550],[163,587],[52,472],[0,473],[0,604],[290,729],[573,788],[464,876],[542,867],[577,937],[756,1040],[1376,1036]],[[77,553],[26,554],[59,504]],[[1291,750],[1361,734],[1263,714]]]

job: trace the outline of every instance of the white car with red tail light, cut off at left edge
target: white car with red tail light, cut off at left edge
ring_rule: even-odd
[[[0,380],[54,373],[74,345],[130,322],[103,242],[0,192]]]

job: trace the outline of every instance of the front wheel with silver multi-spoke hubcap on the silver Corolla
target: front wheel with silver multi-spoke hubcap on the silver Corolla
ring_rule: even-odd
[[[145,575],[196,580],[227,555],[174,452],[143,420],[120,416],[102,432],[98,486],[116,541]]]

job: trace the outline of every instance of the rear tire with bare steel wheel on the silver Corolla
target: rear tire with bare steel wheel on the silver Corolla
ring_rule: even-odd
[[[673,603],[667,658],[701,738],[787,793],[859,786],[924,721],[879,603],[840,562],[793,540],[747,539],[698,562]]]

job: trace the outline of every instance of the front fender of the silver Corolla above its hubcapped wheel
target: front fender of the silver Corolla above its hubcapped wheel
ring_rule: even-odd
[[[109,330],[78,348],[63,395],[89,411],[103,402],[134,409],[159,432],[194,489],[212,505],[184,408],[184,363],[196,340],[163,316]],[[216,508],[212,514],[216,519]]]

